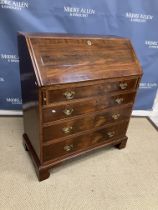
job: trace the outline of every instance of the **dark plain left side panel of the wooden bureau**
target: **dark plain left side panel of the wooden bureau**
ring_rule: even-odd
[[[18,36],[18,50],[20,58],[20,78],[23,101],[24,132],[27,134],[37,156],[40,159],[40,112],[39,88],[29,55],[26,39]]]

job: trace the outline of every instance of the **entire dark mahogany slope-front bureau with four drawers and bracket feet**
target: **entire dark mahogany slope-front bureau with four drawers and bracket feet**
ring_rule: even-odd
[[[53,166],[126,146],[142,76],[128,39],[20,33],[24,145],[40,181]]]

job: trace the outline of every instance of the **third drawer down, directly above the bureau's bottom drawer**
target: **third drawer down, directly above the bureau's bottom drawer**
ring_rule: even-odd
[[[106,124],[118,122],[120,120],[128,120],[132,107],[123,106],[121,108],[113,108],[98,114],[91,114],[79,119],[66,120],[62,123],[54,123],[53,125],[43,127],[43,141],[58,139],[72,135],[77,132],[98,128]]]

